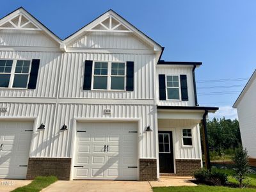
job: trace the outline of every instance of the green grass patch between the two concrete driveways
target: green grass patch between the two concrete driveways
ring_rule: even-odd
[[[55,176],[38,176],[27,186],[14,189],[12,192],[39,192],[57,180],[58,179]]]

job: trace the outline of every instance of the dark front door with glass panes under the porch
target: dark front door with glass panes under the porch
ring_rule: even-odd
[[[160,173],[174,173],[172,131],[159,131],[158,142]]]

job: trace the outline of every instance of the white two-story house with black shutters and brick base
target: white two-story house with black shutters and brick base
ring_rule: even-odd
[[[63,26],[65,28],[65,26]],[[0,178],[156,180],[202,167],[195,68],[109,10],[61,40],[0,20]]]

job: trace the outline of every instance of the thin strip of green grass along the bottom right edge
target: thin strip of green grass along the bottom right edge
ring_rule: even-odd
[[[200,191],[211,191],[211,192],[231,192],[231,191],[244,191],[244,192],[255,192],[256,189],[240,189],[240,188],[227,188],[227,187],[217,187],[217,186],[182,186],[182,187],[161,187],[161,188],[152,188],[154,192],[200,192]]]

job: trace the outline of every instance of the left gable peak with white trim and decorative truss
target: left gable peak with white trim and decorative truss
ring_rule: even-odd
[[[54,41],[58,42],[59,44],[62,43],[61,38],[55,35],[50,29],[48,29],[44,24],[42,24],[42,22],[40,22],[35,17],[33,17],[33,15],[31,15],[28,11],[26,11],[22,6],[20,8],[17,8],[17,10],[14,10],[13,12],[9,13],[8,15],[2,17],[0,19],[0,26],[4,26],[4,24],[7,24],[8,22],[11,22],[12,24],[12,20],[18,17],[18,15],[22,15],[22,18],[28,20],[28,24],[30,24],[31,26],[34,26],[35,30],[44,31],[44,33],[50,36]],[[24,25],[27,26],[26,23]],[[16,29],[25,29],[25,30],[29,29],[29,28],[22,28],[22,26],[16,26],[15,24],[12,26],[12,28],[6,28],[6,29],[15,29],[15,27]]]

